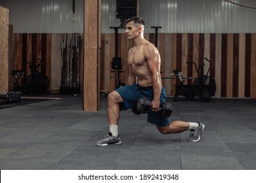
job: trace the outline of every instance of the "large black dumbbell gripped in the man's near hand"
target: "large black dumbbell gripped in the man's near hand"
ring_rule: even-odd
[[[137,102],[137,105],[131,108],[131,110],[133,110],[135,114],[146,114],[152,111],[151,108],[152,106],[151,106],[150,100],[147,98],[142,98],[142,99],[139,99],[139,101]],[[172,112],[173,112],[173,109],[170,103],[163,103],[160,106],[160,110],[158,111],[160,116],[162,116],[163,118],[169,118]]]

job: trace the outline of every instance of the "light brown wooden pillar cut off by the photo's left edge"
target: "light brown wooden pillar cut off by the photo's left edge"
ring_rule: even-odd
[[[9,10],[0,7],[0,93],[9,85]]]

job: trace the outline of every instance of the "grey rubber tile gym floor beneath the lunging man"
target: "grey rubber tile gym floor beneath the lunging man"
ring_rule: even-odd
[[[162,135],[146,114],[121,111],[123,144],[97,147],[108,133],[106,97],[101,109],[85,112],[83,97],[44,95],[51,100],[0,110],[0,169],[256,169],[256,100],[167,101],[171,120],[205,124],[202,139],[189,131]],[[22,101],[20,102],[22,103]]]

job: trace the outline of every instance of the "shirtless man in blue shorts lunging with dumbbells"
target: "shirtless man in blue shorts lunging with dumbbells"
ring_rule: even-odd
[[[144,39],[144,21],[140,17],[131,17],[126,20],[126,35],[128,40],[134,42],[133,48],[128,52],[129,85],[118,88],[108,94],[108,123],[110,132],[98,142],[96,146],[121,144],[118,133],[118,120],[120,110],[127,110],[135,105],[140,98],[150,99],[152,112],[148,113],[147,121],[156,125],[163,134],[181,133],[190,130],[188,141],[200,141],[204,124],[200,122],[169,121],[158,115],[160,104],[165,103],[165,89],[161,84],[161,59],[154,44]]]

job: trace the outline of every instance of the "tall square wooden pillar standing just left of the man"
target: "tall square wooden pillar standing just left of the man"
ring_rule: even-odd
[[[84,0],[83,110],[100,109],[101,0]]]

